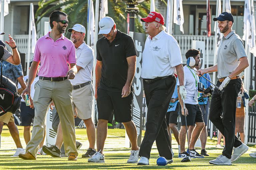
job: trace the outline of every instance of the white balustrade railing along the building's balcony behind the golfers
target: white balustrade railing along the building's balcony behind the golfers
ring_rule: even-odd
[[[42,35],[40,35],[41,37]],[[185,61],[185,54],[187,50],[192,48],[192,40],[204,41],[206,44],[206,36],[201,35],[173,35],[173,37],[178,41],[181,55]],[[39,38],[39,35],[37,36]],[[21,53],[27,53],[28,35],[15,35],[14,40],[19,47]],[[206,45],[205,45],[206,46]],[[206,49],[205,49],[206,52]],[[213,54],[214,54],[214,36],[209,37],[209,64],[213,64]],[[206,57],[206,54],[205,54]],[[206,61],[205,61],[206,62]],[[206,63],[205,63],[206,64]]]

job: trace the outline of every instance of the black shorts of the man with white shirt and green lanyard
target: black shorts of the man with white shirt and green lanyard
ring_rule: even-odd
[[[185,106],[188,109],[187,125],[195,125],[196,122],[204,122],[199,104],[185,104]],[[185,116],[181,114],[181,111],[180,118],[181,126],[185,126]]]

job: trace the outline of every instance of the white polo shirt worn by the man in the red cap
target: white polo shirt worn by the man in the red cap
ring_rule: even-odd
[[[155,79],[173,75],[175,66],[182,64],[178,42],[164,30],[155,37],[147,37],[142,53],[141,77]]]

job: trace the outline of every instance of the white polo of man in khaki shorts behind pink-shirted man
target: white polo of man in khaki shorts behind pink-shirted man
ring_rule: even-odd
[[[79,85],[92,81],[92,68],[93,68],[93,50],[90,46],[83,42],[76,49],[77,66],[82,67],[75,78],[70,80],[72,85]]]

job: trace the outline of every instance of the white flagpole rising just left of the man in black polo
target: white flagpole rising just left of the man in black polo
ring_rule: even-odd
[[[96,56],[97,56],[97,51],[96,51],[96,44],[98,41],[98,25],[99,25],[99,0],[96,0],[95,3],[95,30],[94,30],[94,60],[93,60],[93,87],[95,88],[95,81],[96,81],[96,73],[95,73],[95,68],[96,68]],[[95,89],[96,90],[96,89]],[[92,103],[92,121],[95,122],[95,98]]]

